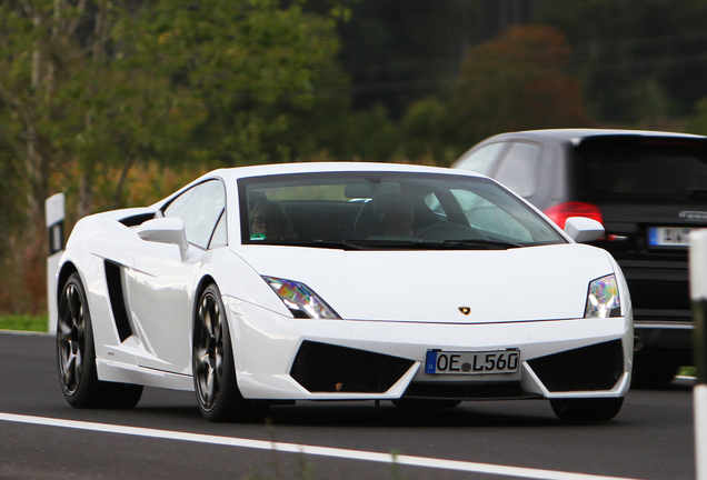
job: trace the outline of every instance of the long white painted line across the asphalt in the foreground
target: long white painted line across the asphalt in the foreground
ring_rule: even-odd
[[[554,470],[529,469],[521,467],[505,467],[491,463],[477,463],[458,460],[441,460],[426,457],[394,456],[362,450],[348,450],[331,447],[315,447],[297,443],[281,443],[265,440],[251,440],[232,437],[208,436],[201,433],[186,433],[172,430],[158,430],[141,427],[125,427],[110,423],[94,423],[76,420],[62,420],[44,417],[32,417],[12,413],[0,413],[0,421],[29,423],[44,427],[61,427],[87,431],[120,433],[138,437],[149,437],[163,440],[181,440],[199,443],[211,443],[225,447],[240,447],[258,450],[276,450],[288,453],[303,453],[321,457],[332,457],[349,460],[366,460],[382,463],[397,463],[409,467],[426,467],[445,470],[466,471],[474,473],[489,473],[507,477],[518,477],[540,480],[635,480],[619,477],[603,477],[587,473],[559,472]]]

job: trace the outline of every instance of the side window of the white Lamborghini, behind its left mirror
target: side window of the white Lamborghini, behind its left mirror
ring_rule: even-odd
[[[165,210],[165,217],[178,217],[185,222],[187,240],[206,249],[215,234],[217,222],[226,207],[226,192],[219,180],[200,183],[175,199]],[[220,236],[226,234],[226,226]],[[213,243],[213,242],[212,242]]]

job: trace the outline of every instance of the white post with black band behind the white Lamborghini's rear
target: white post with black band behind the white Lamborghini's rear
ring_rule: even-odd
[[[47,312],[49,313],[49,333],[57,332],[57,270],[59,257],[63,251],[63,193],[57,193],[44,201],[47,218],[47,238],[49,239],[49,258],[47,258]]]

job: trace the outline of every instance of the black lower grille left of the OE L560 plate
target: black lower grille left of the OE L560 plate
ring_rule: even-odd
[[[310,392],[382,393],[412,363],[399,357],[303,341],[290,376]]]

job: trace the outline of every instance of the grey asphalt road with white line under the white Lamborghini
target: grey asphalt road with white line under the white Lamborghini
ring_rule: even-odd
[[[191,392],[146,389],[127,411],[71,409],[53,348],[50,336],[0,332],[0,480],[695,478],[685,380],[631,390],[614,421],[590,426],[561,424],[546,401],[300,402],[272,407],[267,423],[218,424]]]

